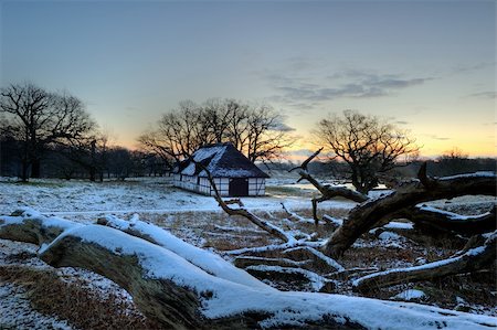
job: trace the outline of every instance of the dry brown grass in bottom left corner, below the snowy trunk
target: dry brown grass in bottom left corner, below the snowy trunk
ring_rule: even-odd
[[[21,266],[0,266],[0,279],[27,289],[32,307],[54,315],[78,329],[160,329],[128,302],[109,294],[101,298],[56,274]]]

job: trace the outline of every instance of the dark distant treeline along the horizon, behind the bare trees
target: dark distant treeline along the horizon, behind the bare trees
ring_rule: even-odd
[[[71,155],[60,147],[54,147],[44,152],[41,167],[41,177],[61,179],[88,179],[88,169],[82,155]],[[88,156],[86,156],[88,157]],[[168,174],[171,163],[157,155],[131,151],[123,147],[97,149],[94,160],[97,166],[96,177],[101,179],[120,179],[129,177],[157,177]],[[415,178],[424,161],[413,161],[406,166],[394,168],[384,178],[409,179]],[[427,171],[433,177],[446,177],[478,171],[497,172],[497,159],[495,158],[467,158],[443,156],[435,160],[427,160]],[[296,163],[273,162],[262,167],[263,170],[289,170]],[[350,168],[342,161],[314,161],[309,164],[309,171],[318,177],[336,180],[347,180],[350,177]],[[19,142],[13,139],[0,141],[0,175],[20,177],[22,162],[19,157]],[[381,182],[381,180],[380,180]]]

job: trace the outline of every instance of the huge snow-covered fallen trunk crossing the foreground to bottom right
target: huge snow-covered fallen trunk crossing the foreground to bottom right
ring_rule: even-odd
[[[22,219],[2,217],[0,226],[15,224],[31,231]],[[54,267],[81,267],[112,279],[165,328],[371,329],[394,328],[399,319],[416,329],[440,324],[487,329],[495,323],[495,318],[416,304],[255,289],[212,276],[176,253],[102,225],[64,231],[43,245],[40,257]]]

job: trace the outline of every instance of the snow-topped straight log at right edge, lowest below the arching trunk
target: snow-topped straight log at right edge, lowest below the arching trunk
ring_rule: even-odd
[[[465,274],[491,266],[496,259],[497,232],[494,232],[483,246],[474,247],[464,254],[456,255],[448,259],[443,259],[421,266],[390,269],[374,273],[353,281],[353,288],[358,291],[368,291],[374,288],[398,285],[402,283],[413,283],[421,280],[432,280],[455,274]]]

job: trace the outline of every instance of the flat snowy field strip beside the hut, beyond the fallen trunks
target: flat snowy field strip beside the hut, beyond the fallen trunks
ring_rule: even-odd
[[[275,182],[277,184],[277,181]],[[268,184],[266,187],[269,187]],[[308,209],[310,201],[293,195],[243,198],[247,210],[279,211],[282,202],[292,210]],[[172,187],[172,178],[130,179],[103,183],[65,180],[33,180],[19,184],[0,178],[0,205],[3,213],[20,207],[36,207],[45,215],[94,221],[106,214],[223,212],[211,196],[194,194]],[[321,210],[352,209],[350,201],[327,201]]]

